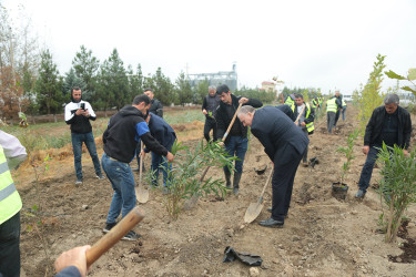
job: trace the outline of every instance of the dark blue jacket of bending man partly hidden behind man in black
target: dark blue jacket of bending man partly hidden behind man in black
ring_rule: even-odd
[[[149,130],[150,134],[162,144],[168,151],[171,151],[174,141],[176,140],[175,131],[161,116],[150,113]],[[145,153],[150,150],[144,148]]]

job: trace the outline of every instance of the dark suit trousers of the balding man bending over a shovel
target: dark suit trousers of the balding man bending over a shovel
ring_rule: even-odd
[[[274,173],[272,179],[272,218],[284,222],[292,199],[293,182],[303,153],[286,144],[274,155]]]

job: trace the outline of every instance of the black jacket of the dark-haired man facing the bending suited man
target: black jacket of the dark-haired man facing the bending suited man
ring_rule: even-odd
[[[235,96],[234,94],[231,94],[231,98],[232,98],[232,106],[234,107],[234,111],[236,111],[239,109],[239,100],[242,99],[242,96]],[[262,101],[260,100],[256,100],[256,99],[248,99],[248,102],[246,104],[243,104],[243,105],[251,105],[253,107],[261,107],[263,105]],[[220,105],[219,107],[216,109],[216,115],[215,115],[215,120],[216,120],[216,140],[221,140],[224,134],[225,134],[225,131],[226,129],[229,127],[231,121],[233,120],[233,117],[229,116],[227,112],[226,112],[226,104],[224,102],[220,102]],[[247,136],[247,127],[243,125],[243,123],[241,123],[241,121],[239,120],[239,116],[235,119],[235,122],[234,124],[240,124],[241,126],[241,130],[243,131],[243,137],[246,137]],[[227,136],[225,138],[225,143],[229,141],[230,136]]]

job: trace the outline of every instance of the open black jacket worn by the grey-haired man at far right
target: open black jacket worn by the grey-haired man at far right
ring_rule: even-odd
[[[382,141],[384,116],[386,109],[384,105],[374,109],[372,117],[365,129],[364,145],[376,145],[377,142]],[[407,150],[410,145],[410,133],[412,133],[412,120],[410,114],[406,109],[397,106],[398,117],[398,145],[402,148]]]

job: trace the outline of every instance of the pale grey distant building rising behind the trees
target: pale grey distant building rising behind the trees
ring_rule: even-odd
[[[196,86],[200,82],[207,80],[210,85],[219,86],[221,84],[226,84],[231,91],[237,89],[237,72],[236,64],[233,63],[232,71],[219,71],[216,73],[199,73],[199,74],[187,74],[191,86]]]

